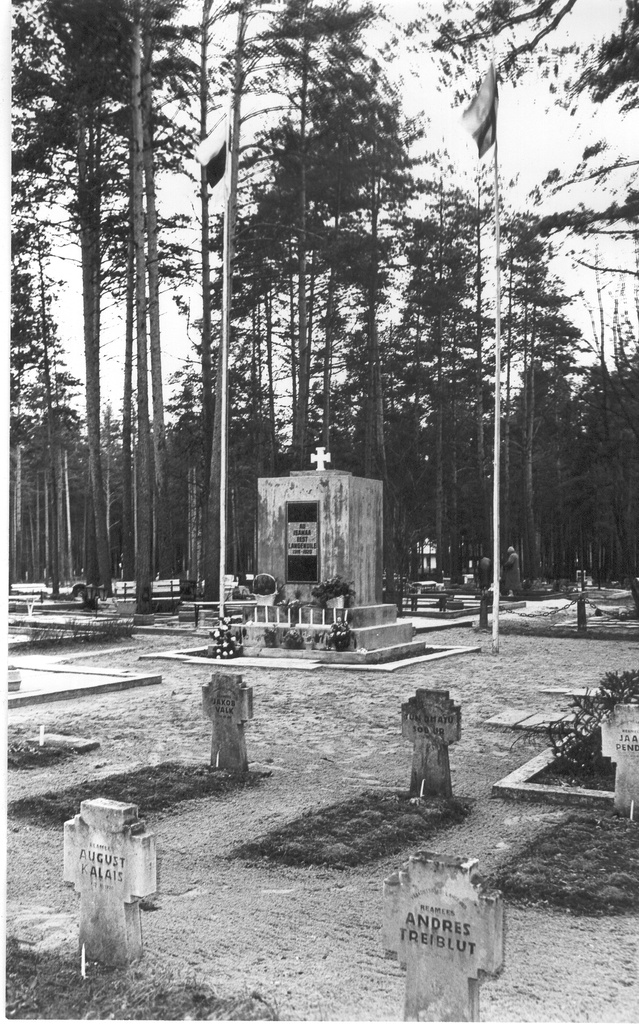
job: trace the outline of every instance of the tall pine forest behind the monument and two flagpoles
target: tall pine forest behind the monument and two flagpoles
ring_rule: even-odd
[[[616,128],[526,194],[498,165],[500,544],[530,581],[639,574],[639,4],[601,3],[584,42],[584,0],[18,0],[10,582],[214,599],[223,447],[240,580],[258,477],[320,445],[384,482],[390,593],[491,554],[495,150],[431,123],[461,136],[491,59],[500,154],[525,90]],[[226,240],[194,159],[224,119]]]

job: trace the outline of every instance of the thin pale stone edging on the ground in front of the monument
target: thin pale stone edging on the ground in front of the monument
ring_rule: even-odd
[[[211,669],[227,671],[241,671],[242,669],[291,669],[291,670],[304,670],[306,672],[315,672],[317,669],[341,669],[342,671],[353,670],[355,672],[397,672],[398,669],[403,669],[409,666],[422,664],[424,662],[437,662],[445,657],[455,657],[459,654],[475,654],[481,651],[481,644],[477,644],[473,647],[445,647],[441,648],[440,651],[436,651],[434,654],[420,654],[416,657],[404,657],[399,662],[380,662],[378,664],[364,663],[356,664],[353,662],[344,662],[340,658],[343,656],[339,652],[335,652],[335,660],[332,662],[317,662],[312,659],[312,652],[300,651],[300,654],[307,653],[307,657],[252,657],[250,655],[243,655],[242,657],[229,658],[227,660],[216,659],[212,657],[203,657],[199,655],[200,651],[205,651],[208,645],[199,646],[193,648],[190,651],[184,650],[169,650],[169,651],[154,651],[152,654],[140,654],[140,660],[144,658],[153,658],[154,660],[166,659],[174,662],[185,662],[188,665],[206,665]],[[429,644],[432,646],[432,644]],[[291,652],[297,653],[297,652]],[[353,652],[351,652],[353,653]]]

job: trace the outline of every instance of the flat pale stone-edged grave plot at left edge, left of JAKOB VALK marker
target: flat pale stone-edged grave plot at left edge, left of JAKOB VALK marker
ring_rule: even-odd
[[[83,656],[87,656],[86,651],[83,651]],[[8,694],[9,710],[136,686],[154,686],[162,682],[162,676],[156,674],[133,674],[91,666],[74,667],[56,663],[46,655],[11,655],[11,665],[20,674],[20,688]]]

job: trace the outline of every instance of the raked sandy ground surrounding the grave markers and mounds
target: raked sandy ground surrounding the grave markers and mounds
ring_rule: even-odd
[[[401,737],[400,703],[418,686],[432,686],[462,705],[453,785],[476,801],[436,849],[477,857],[487,872],[566,812],[492,799],[493,783],[544,738],[524,743],[485,720],[510,708],[559,709],[565,700],[543,694],[543,686],[596,685],[604,672],[637,665],[631,641],[503,636],[498,655],[489,636],[470,629],[433,634],[432,642],[479,643],[481,651],[395,673],[244,669],[254,692],[251,768],[272,774],[229,799],[185,803],[147,819],[161,858],[159,909],[142,921],[148,963],[169,963],[220,993],[256,989],[283,1019],[401,1020],[404,974],[381,945],[382,883],[415,850],[344,871],[248,864],[226,854],[302,811],[371,786],[408,787],[411,746]],[[206,763],[210,723],[200,690],[211,669],[139,660],[142,652],[175,647],[172,638],[147,637],[123,642],[117,653],[74,657],[74,665],[97,659],[102,668],[159,672],[160,686],[11,710],[11,736],[35,735],[42,724],[101,746],[54,768],[11,772],[9,799],[166,760]],[[9,818],[7,844],[8,934],[74,948],[79,905],[62,883],[61,829]],[[485,1021],[639,1021],[637,918],[507,905],[504,969],[484,981],[480,1011]]]

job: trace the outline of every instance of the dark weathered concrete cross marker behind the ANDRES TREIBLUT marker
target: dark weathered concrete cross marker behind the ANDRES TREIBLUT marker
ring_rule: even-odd
[[[417,690],[401,705],[401,735],[414,743],[411,796],[452,797],[449,743],[462,735],[460,705],[448,690]]]

